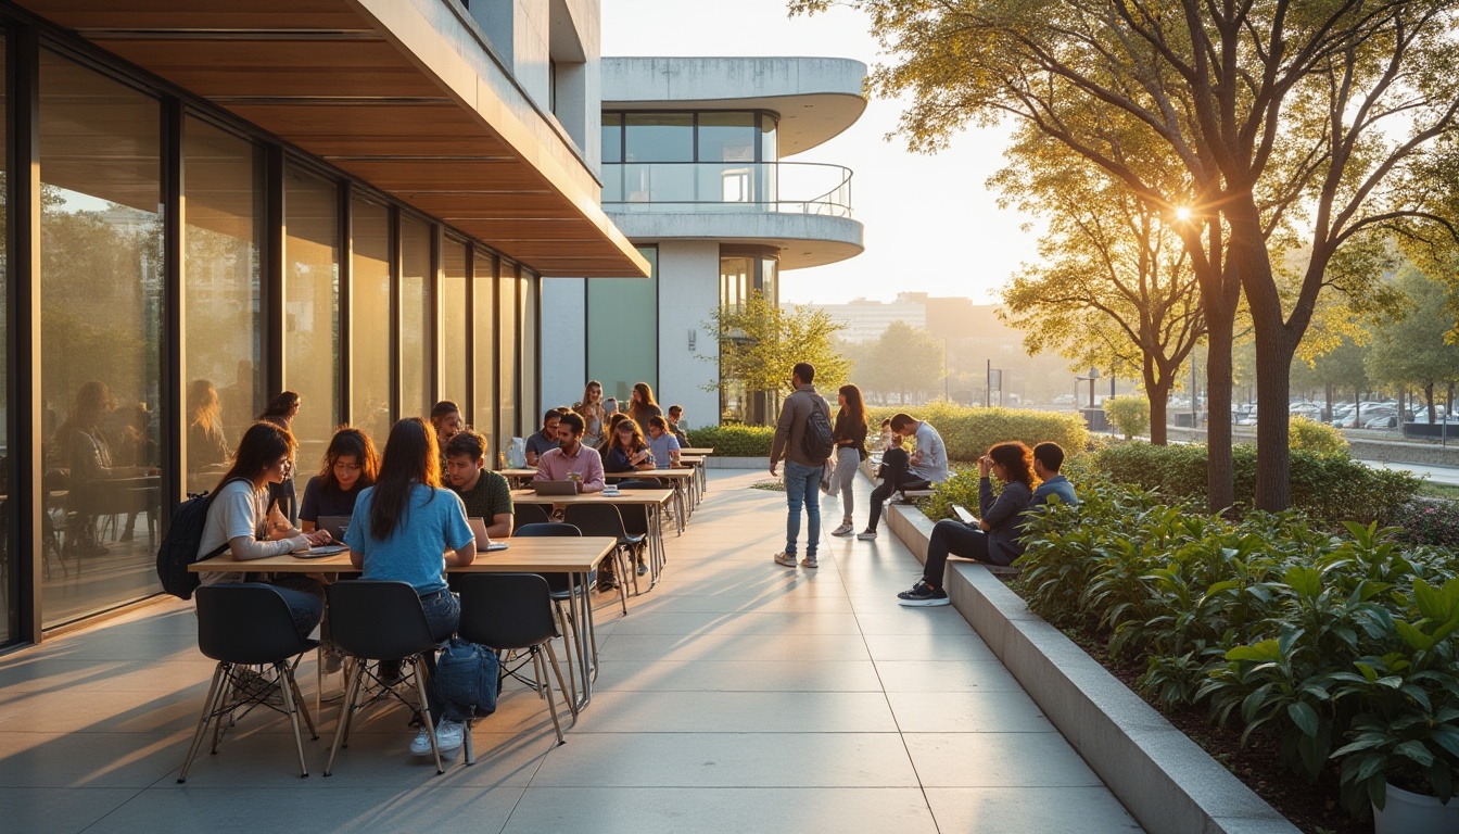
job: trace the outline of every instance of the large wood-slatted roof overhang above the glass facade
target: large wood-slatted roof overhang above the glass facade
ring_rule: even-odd
[[[549,276],[646,276],[560,129],[454,3],[19,0]]]

